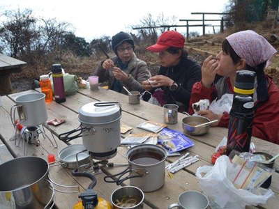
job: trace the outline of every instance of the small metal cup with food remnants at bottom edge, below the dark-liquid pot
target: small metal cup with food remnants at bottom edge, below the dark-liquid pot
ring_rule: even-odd
[[[110,201],[114,209],[142,209],[144,208],[144,192],[133,186],[120,187],[112,192]]]

